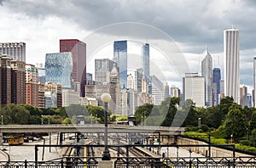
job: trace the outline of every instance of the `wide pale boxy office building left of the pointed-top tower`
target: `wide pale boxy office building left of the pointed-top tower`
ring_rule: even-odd
[[[192,99],[197,107],[204,107],[206,104],[205,77],[198,73],[185,73],[183,77],[183,100]]]

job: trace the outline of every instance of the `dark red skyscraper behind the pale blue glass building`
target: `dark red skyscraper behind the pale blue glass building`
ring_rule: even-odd
[[[80,95],[84,97],[86,84],[86,44],[77,39],[60,40],[60,53],[71,52],[73,58],[73,81],[80,82]]]

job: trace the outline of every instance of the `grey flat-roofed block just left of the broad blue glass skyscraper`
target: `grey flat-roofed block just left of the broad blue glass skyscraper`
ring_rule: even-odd
[[[110,72],[114,62],[110,59],[95,59],[95,81],[110,82]]]

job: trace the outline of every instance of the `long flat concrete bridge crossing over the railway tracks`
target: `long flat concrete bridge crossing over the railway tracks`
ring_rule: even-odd
[[[54,124],[54,125],[0,125],[0,132],[24,133],[24,132],[104,132],[104,124]],[[167,127],[167,126],[128,126],[109,124],[109,133],[160,133],[161,135],[181,135],[184,132],[183,127]]]

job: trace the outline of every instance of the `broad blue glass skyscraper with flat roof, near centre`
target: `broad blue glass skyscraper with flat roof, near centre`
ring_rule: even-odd
[[[117,63],[121,88],[127,88],[127,41],[113,42],[113,62]]]

